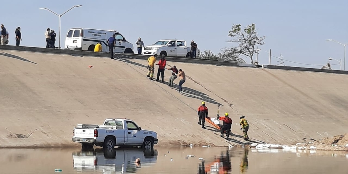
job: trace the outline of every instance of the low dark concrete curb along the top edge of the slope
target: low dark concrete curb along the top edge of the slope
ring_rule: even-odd
[[[36,52],[36,53],[46,53],[46,54],[65,54],[65,55],[73,55],[73,56],[77,55],[77,56],[92,56],[92,57],[105,57],[105,58],[110,57],[110,53],[100,53],[100,52],[96,53],[96,52],[79,51],[79,50],[50,49],[50,48],[12,46],[12,45],[0,45],[0,50]],[[116,56],[118,56],[119,58],[124,58],[124,59],[132,58],[132,59],[139,59],[139,60],[147,60],[147,58],[149,57],[148,55],[138,55],[138,54],[116,54]],[[207,64],[207,65],[217,65],[217,66],[234,66],[234,67],[245,67],[245,68],[348,74],[348,71],[341,71],[341,70],[325,70],[325,69],[303,68],[303,67],[293,67],[293,66],[277,66],[277,65],[255,65],[250,63],[212,61],[212,60],[193,59],[193,58],[186,58],[186,57],[166,57],[166,60],[171,62]]]

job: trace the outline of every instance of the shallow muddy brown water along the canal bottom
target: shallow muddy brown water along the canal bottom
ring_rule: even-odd
[[[0,173],[347,174],[348,152],[242,148],[0,149]],[[195,157],[187,157],[193,155]],[[140,158],[141,164],[135,164]],[[203,158],[203,159],[202,159]]]

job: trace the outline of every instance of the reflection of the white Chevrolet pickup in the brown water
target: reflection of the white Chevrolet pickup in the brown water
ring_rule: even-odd
[[[103,174],[135,173],[140,167],[151,166],[157,161],[153,149],[84,149],[73,152],[73,166],[78,173],[100,171]],[[135,160],[140,158],[140,163]]]

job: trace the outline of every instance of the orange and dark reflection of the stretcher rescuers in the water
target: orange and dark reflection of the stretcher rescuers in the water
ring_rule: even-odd
[[[221,152],[220,156],[215,156],[214,161],[208,166],[205,166],[205,162],[202,161],[198,165],[198,174],[227,174],[231,173],[231,156],[229,151],[226,151],[226,154]]]

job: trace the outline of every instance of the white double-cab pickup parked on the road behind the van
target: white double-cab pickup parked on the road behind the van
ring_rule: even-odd
[[[142,55],[189,57],[191,47],[184,40],[159,40],[155,44],[145,46]]]

